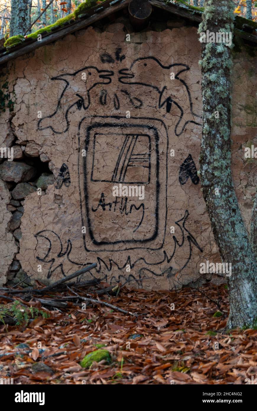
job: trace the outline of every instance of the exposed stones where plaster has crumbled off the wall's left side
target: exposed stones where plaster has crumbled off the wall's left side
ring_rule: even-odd
[[[8,116],[9,120],[7,120]],[[2,123],[5,123],[5,120],[11,122],[11,117],[8,112],[7,116],[3,112],[0,121]],[[2,164],[0,164],[0,285],[6,282],[7,284],[8,282],[9,284],[22,282],[23,286],[32,285],[34,279],[29,279],[16,256],[19,250],[19,241],[22,238],[20,226],[24,212],[23,204],[29,194],[37,192],[37,188],[41,188],[44,195],[43,190],[54,183],[54,177],[48,166],[39,159],[39,150],[36,144],[15,145],[15,136],[13,135],[14,137],[8,141],[2,134],[3,130],[5,130],[4,127],[1,132],[2,148],[12,149],[13,159],[6,158],[7,155],[10,155],[10,152],[7,152],[5,157],[1,158]],[[19,141],[16,142],[19,143]],[[21,143],[26,144],[27,142]],[[5,153],[3,152],[3,154]],[[42,171],[48,171],[48,173]]]

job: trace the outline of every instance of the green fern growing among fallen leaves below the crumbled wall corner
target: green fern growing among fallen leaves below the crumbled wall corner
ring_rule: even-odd
[[[48,318],[48,312],[39,310],[36,307],[21,307],[19,301],[14,301],[11,305],[0,305],[0,323],[5,325],[5,317],[12,317],[17,326],[21,324],[28,325],[30,319],[35,319],[39,315]]]

